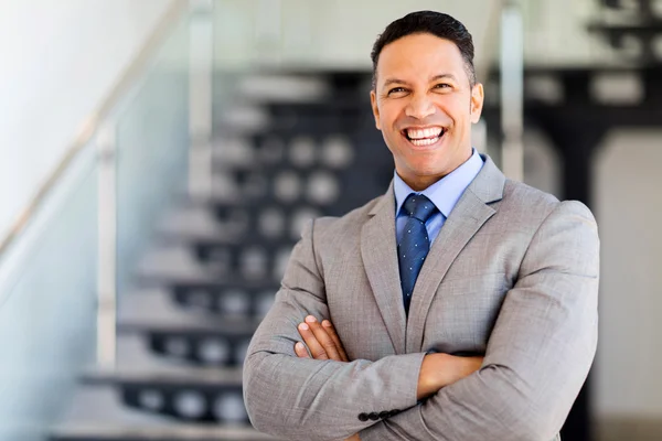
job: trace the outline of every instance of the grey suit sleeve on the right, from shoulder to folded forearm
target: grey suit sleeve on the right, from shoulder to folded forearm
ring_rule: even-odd
[[[482,367],[362,432],[372,440],[547,441],[560,430],[597,345],[595,219],[564,202],[532,238]]]

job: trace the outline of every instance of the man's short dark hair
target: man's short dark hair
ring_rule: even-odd
[[[385,45],[403,36],[428,33],[440,39],[450,40],[460,50],[465,60],[465,69],[469,84],[476,84],[476,67],[473,66],[473,39],[465,25],[452,17],[435,11],[412,12],[397,19],[386,26],[377,37],[370,54],[373,62],[373,88],[376,87],[377,62]]]

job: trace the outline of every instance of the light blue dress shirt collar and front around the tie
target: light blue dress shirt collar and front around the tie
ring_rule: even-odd
[[[458,166],[450,174],[444,176],[433,185],[425,189],[423,192],[415,192],[398,176],[397,172],[394,172],[393,190],[395,191],[395,233],[397,243],[399,244],[403,237],[403,229],[407,223],[407,214],[402,209],[403,204],[407,196],[412,193],[424,194],[427,198],[433,201],[439,212],[435,213],[425,227],[430,238],[430,246],[439,235],[444,223],[450,216],[450,212],[456,206],[465,190],[469,186],[471,181],[478,175],[478,172],[483,166],[483,159],[480,157],[476,149],[472,149],[473,153],[468,161],[462,165]]]

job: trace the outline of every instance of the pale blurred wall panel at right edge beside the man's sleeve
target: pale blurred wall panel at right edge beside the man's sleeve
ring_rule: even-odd
[[[602,265],[595,402],[602,420],[662,419],[661,139],[662,130],[613,131],[596,163]]]

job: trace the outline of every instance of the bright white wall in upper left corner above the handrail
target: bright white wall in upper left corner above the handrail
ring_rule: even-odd
[[[169,4],[0,1],[0,239]]]

